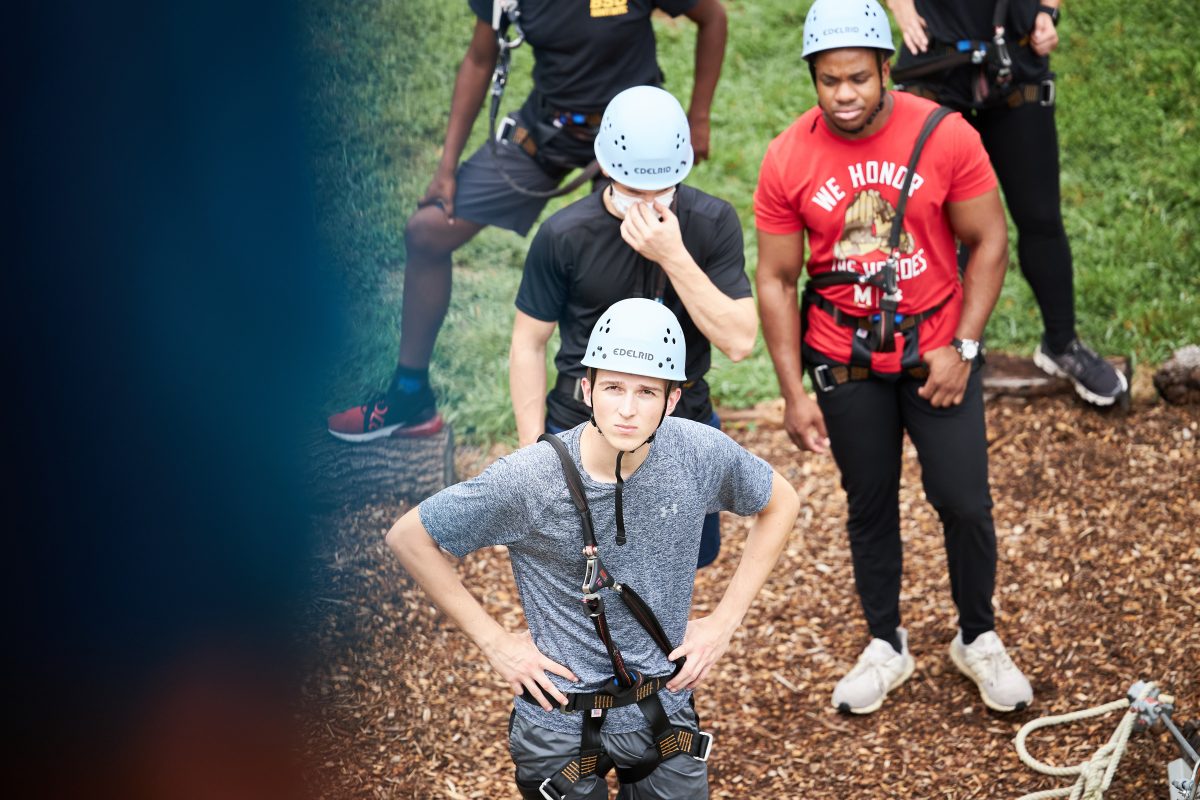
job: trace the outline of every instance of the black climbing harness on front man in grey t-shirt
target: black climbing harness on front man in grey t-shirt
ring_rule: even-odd
[[[662,702],[659,699],[659,690],[666,687],[674,675],[683,668],[686,657],[680,657],[674,662],[674,670],[665,675],[643,675],[625,664],[625,660],[612,640],[608,632],[608,621],[604,610],[604,597],[601,589],[608,589],[620,597],[622,602],[632,614],[634,619],[654,639],[654,643],[662,650],[664,655],[670,655],[673,648],[662,625],[654,612],[646,604],[646,601],[634,591],[632,587],[618,583],[608,572],[608,569],[600,560],[600,548],[596,545],[595,530],[592,522],[592,511],[588,507],[587,494],[583,491],[583,481],[575,468],[575,462],[563,441],[552,434],[544,433],[538,437],[538,441],[547,441],[553,446],[559,461],[563,463],[563,476],[566,479],[566,487],[570,491],[571,501],[580,515],[580,523],[583,530],[583,555],[587,558],[587,567],[583,572],[583,604],[588,616],[596,630],[596,636],[604,642],[612,662],[613,676],[602,688],[594,692],[571,692],[568,702],[562,706],[564,714],[574,711],[583,712],[583,730],[580,738],[580,752],[570,762],[564,764],[553,775],[545,778],[538,786],[538,794],[526,794],[527,798],[540,795],[545,800],[565,800],[571,792],[571,787],[578,781],[590,775],[604,780],[616,765],[612,758],[604,751],[600,729],[604,726],[605,715],[608,709],[623,708],[637,704],[642,715],[646,716],[650,727],[653,744],[647,747],[641,760],[632,766],[617,766],[617,778],[623,786],[637,783],[658,769],[659,764],[676,756],[690,756],[701,762],[708,760],[708,754],[713,747],[713,735],[710,733],[674,726],[667,717]],[[618,545],[624,543],[624,536],[618,536]],[[538,705],[528,690],[521,696],[528,703]],[[540,706],[539,706],[540,708]],[[698,723],[698,717],[697,717]],[[520,787],[524,794],[526,787]],[[532,787],[528,787],[532,790]]]

